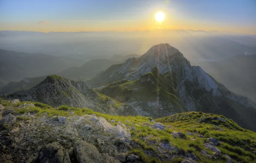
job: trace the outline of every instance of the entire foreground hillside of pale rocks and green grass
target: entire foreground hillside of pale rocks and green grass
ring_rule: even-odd
[[[152,120],[0,100],[1,163],[253,163],[256,133],[222,115]]]

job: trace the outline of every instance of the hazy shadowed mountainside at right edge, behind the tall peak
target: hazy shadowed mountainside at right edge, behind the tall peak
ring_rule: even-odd
[[[256,54],[213,62],[202,61],[198,65],[229,90],[256,102]]]

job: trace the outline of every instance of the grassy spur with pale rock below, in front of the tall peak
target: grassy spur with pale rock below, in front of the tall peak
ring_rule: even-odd
[[[129,103],[140,115],[159,118],[187,111],[172,85],[170,78],[159,75],[158,69],[154,67],[152,72],[135,81],[113,82],[96,90],[121,103]]]

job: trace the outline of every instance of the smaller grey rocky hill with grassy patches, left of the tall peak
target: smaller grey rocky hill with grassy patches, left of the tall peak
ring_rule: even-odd
[[[134,107],[122,104],[88,87],[85,82],[74,82],[57,75],[46,77],[37,86],[4,96],[7,99],[21,101],[39,101],[57,107],[90,108],[94,111],[114,115],[137,115]]]

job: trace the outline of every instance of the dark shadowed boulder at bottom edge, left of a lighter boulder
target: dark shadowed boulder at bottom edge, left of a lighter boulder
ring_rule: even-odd
[[[46,145],[37,156],[35,163],[71,163],[68,152],[58,142]]]

